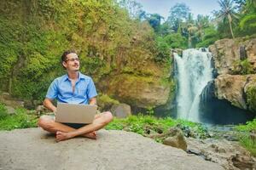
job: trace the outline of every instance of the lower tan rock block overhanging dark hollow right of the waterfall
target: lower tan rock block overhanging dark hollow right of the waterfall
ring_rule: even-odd
[[[253,106],[247,105],[247,89],[256,87],[255,82],[256,75],[220,75],[214,80],[215,96],[241,109],[253,111]]]

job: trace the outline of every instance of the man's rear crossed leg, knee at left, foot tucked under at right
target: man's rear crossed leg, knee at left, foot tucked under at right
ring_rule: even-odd
[[[96,117],[97,118],[97,117]],[[42,127],[45,131],[48,131],[49,133],[56,133],[56,132],[72,132],[76,129],[73,127],[69,127],[67,125],[64,125],[60,122],[54,121],[54,116],[40,116],[38,120],[38,126]],[[82,136],[90,138],[90,139],[96,139],[96,132],[92,133],[84,133]]]

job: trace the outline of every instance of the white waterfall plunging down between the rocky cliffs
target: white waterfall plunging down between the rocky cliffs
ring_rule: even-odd
[[[212,54],[206,48],[186,49],[180,57],[174,53],[177,65],[177,118],[200,122],[200,95],[212,80]]]

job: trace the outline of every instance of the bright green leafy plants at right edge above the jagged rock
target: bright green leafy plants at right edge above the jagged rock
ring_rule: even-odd
[[[256,119],[252,122],[247,122],[246,125],[236,126],[236,130],[242,132],[240,136],[240,143],[247,150],[251,152],[253,156],[256,156],[256,139],[250,136],[250,133],[256,131]],[[255,137],[254,137],[255,138]]]

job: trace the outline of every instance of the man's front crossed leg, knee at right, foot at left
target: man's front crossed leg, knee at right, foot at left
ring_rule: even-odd
[[[69,131],[69,132],[58,131],[58,132],[56,132],[56,139],[57,139],[57,141],[72,139],[79,135],[94,132],[96,130],[101,129],[102,127],[105,127],[108,124],[108,122],[112,121],[112,119],[113,119],[113,116],[112,116],[111,112],[109,112],[109,111],[103,112],[103,113],[97,115],[96,119],[89,125],[80,127],[79,129],[76,129],[74,131]]]

